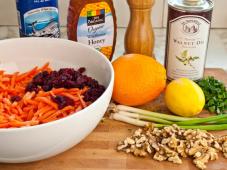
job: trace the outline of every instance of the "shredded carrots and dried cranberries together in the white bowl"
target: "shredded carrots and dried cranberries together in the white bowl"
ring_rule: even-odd
[[[48,123],[93,103],[105,87],[84,75],[85,71],[53,71],[49,63],[25,73],[0,71],[0,128]]]

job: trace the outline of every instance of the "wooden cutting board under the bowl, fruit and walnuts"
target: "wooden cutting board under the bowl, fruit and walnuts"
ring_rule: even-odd
[[[227,73],[222,69],[207,69],[206,75],[215,76],[227,84]],[[162,96],[142,107],[166,112]],[[197,170],[190,159],[184,159],[182,165],[176,165],[117,152],[117,143],[135,129],[135,126],[105,119],[80,144],[58,156],[34,163],[0,164],[0,170]],[[214,134],[227,135],[227,131]],[[227,159],[220,154],[217,161],[208,164],[207,170],[227,170]]]

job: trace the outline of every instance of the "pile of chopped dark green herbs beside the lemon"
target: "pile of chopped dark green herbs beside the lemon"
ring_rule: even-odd
[[[205,109],[217,114],[227,114],[227,90],[224,83],[214,77],[206,77],[197,84],[205,95]]]

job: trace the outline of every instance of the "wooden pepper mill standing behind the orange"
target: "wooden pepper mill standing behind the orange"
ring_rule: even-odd
[[[138,53],[153,57],[154,32],[151,10],[154,0],[127,0],[130,8],[130,21],[125,34],[126,54]]]

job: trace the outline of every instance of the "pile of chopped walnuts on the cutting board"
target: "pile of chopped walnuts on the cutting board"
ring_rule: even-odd
[[[193,158],[199,169],[206,169],[209,160],[217,160],[221,151],[227,158],[227,136],[215,137],[202,130],[185,130],[177,125],[138,129],[131,137],[119,142],[118,151],[145,157],[152,155],[158,161],[182,163],[182,157]]]

